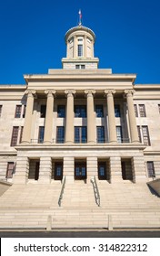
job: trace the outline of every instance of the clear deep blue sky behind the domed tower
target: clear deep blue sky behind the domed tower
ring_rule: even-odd
[[[79,8],[83,25],[95,31],[100,69],[160,83],[159,0],[1,0],[0,84],[61,69],[65,32],[77,25]]]

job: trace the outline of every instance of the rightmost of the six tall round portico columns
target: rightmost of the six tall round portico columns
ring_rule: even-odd
[[[130,127],[130,136],[132,143],[139,143],[138,131],[136,127],[135,120],[135,108],[133,101],[134,90],[125,90],[126,101],[128,106],[128,118],[129,118],[129,127]]]

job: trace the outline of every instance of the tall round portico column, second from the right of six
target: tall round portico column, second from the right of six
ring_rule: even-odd
[[[107,99],[107,112],[108,112],[108,128],[109,128],[109,142],[116,143],[116,129],[115,129],[115,106],[114,97],[115,90],[105,90]]]

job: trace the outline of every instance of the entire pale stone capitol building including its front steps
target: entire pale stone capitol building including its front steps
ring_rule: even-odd
[[[160,84],[98,69],[82,24],[65,45],[62,69],[0,86],[0,228],[160,228]]]

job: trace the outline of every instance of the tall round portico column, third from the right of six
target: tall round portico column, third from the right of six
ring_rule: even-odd
[[[94,94],[95,90],[85,90],[87,97],[87,143],[95,144],[95,112],[94,112]]]

